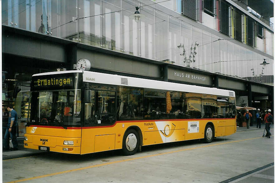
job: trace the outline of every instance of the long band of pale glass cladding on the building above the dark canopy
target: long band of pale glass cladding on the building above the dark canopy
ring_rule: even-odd
[[[162,4],[179,12],[180,2]],[[140,22],[129,17],[136,6],[145,16]],[[216,21],[203,12],[205,26],[219,30]],[[262,70],[263,76],[273,76],[273,60],[266,56],[133,0],[3,0],[2,25],[248,80],[255,78],[247,65],[253,65],[255,76]],[[273,33],[264,28],[256,45],[273,56]],[[264,69],[263,59],[270,63]]]

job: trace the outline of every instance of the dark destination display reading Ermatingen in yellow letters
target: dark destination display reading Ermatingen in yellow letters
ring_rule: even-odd
[[[73,73],[34,76],[31,79],[31,90],[74,89],[74,78]]]

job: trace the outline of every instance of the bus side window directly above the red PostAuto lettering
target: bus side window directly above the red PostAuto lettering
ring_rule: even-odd
[[[166,119],[165,92],[160,90],[144,91],[144,109],[145,120]]]

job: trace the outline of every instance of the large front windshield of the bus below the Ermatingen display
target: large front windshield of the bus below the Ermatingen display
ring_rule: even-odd
[[[80,127],[81,90],[33,91],[31,125]]]

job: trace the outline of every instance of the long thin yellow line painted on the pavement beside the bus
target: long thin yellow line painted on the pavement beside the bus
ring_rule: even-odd
[[[108,162],[108,163],[93,165],[93,166],[89,166],[89,167],[82,167],[82,168],[76,168],[76,169],[72,169],[72,170],[60,171],[60,172],[46,174],[46,175],[42,175],[42,176],[30,177],[30,178],[27,178],[27,179],[21,179],[21,180],[11,181],[11,182],[30,181],[30,180],[33,180],[33,179],[40,179],[40,178],[44,178],[44,177],[48,177],[48,176],[54,176],[54,175],[60,175],[60,174],[63,174],[63,173],[69,173],[69,172],[72,172],[72,171],[85,170],[85,169],[94,168],[94,167],[102,167],[102,166],[111,165],[111,164],[114,164],[114,163],[127,162],[127,161],[142,159],[142,158],[146,158],[146,157],[154,157],[154,156],[159,156],[159,155],[178,153],[178,152],[181,152],[181,151],[188,151],[188,150],[199,149],[199,148],[207,148],[207,147],[211,147],[211,146],[217,146],[217,145],[228,144],[228,143],[242,142],[242,141],[253,140],[253,139],[257,139],[257,138],[263,138],[263,137],[248,138],[248,139],[244,139],[244,140],[237,140],[237,141],[232,141],[232,142],[217,143],[217,144],[211,144],[211,145],[200,146],[200,147],[195,147],[195,148],[181,149],[181,150],[171,151],[171,152],[166,152],[166,153],[159,153],[159,154],[152,154],[152,155],[148,155],[148,156],[135,157],[135,158],[125,159],[125,160],[119,160],[119,161],[115,161],[115,162]],[[7,182],[7,183],[11,183],[11,182]]]

